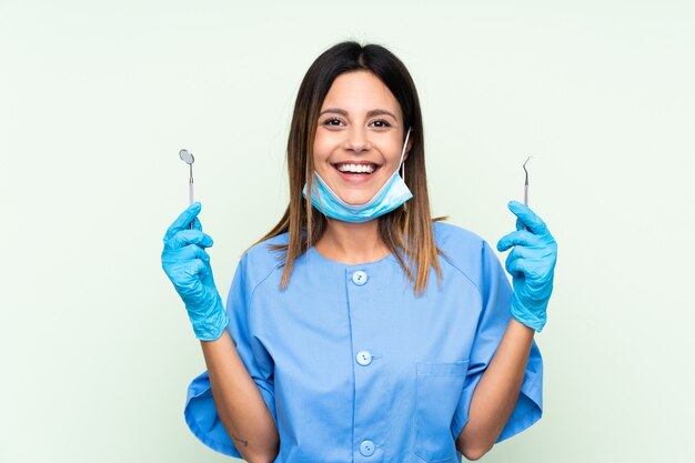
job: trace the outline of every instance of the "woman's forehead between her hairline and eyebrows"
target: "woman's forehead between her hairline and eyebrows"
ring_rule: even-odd
[[[391,90],[370,71],[352,71],[336,77],[323,100],[322,109],[325,108],[341,108],[355,114],[376,108],[401,113],[401,105]]]

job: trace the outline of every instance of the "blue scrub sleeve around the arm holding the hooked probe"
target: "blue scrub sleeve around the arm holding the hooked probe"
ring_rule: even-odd
[[[490,245],[483,241],[481,255],[482,310],[475,332],[463,393],[452,420],[454,440],[469,422],[473,391],[492,360],[506,330],[511,313],[512,286],[504,268]],[[495,443],[508,439],[538,421],[543,414],[543,360],[535,340],[526,364],[516,405]]]

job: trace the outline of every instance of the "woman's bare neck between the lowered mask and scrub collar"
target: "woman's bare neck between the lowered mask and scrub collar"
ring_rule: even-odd
[[[316,242],[324,258],[348,264],[374,262],[391,251],[379,238],[379,219],[352,223],[328,219],[328,227]]]

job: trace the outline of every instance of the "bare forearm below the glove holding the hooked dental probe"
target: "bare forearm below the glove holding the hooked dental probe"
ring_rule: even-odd
[[[502,433],[521,392],[534,330],[511,319],[493,359],[473,392],[469,422],[456,439],[467,460],[487,453]]]

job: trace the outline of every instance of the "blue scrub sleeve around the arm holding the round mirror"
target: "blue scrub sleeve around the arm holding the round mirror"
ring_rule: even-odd
[[[226,330],[278,425],[273,363],[262,345],[252,341],[249,330],[249,304],[253,288],[249,284],[246,255],[241,258],[236,266],[226,300],[226,314],[230,319]],[[208,371],[189,385],[183,414],[189,429],[202,443],[225,455],[242,459],[218,416]]]

